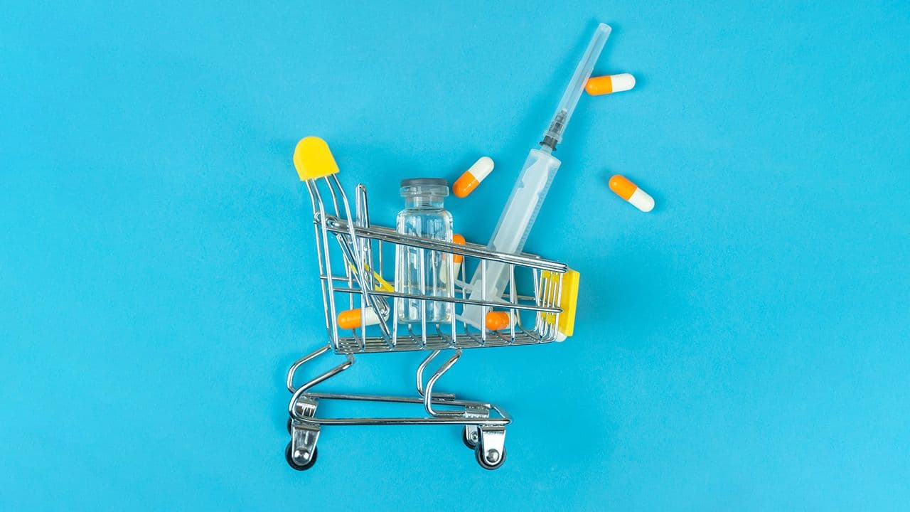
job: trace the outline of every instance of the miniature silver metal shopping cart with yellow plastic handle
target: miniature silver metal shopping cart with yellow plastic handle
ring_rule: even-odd
[[[290,443],[285,451],[288,465],[303,470],[313,466],[317,458],[319,431],[326,425],[463,425],[462,441],[475,451],[480,466],[495,469],[505,461],[506,425],[511,417],[496,405],[463,400],[454,394],[435,393],[434,385],[450,370],[469,348],[503,347],[550,343],[571,334],[574,303],[577,296],[577,272],[562,263],[548,261],[531,254],[502,254],[488,251],[484,246],[467,243],[459,245],[403,235],[396,230],[373,226],[369,222],[367,192],[363,185],[356,189],[354,215],[338,179],[338,166],[329,147],[320,138],[304,138],[294,155],[300,179],[306,183],[313,204],[313,223],[319,277],[325,303],[325,325],[329,343],[308,353],[288,370],[288,405]],[[437,251],[460,255],[459,271],[446,258],[450,295],[424,295],[397,292],[383,279],[386,261],[394,261],[402,248]],[[428,260],[429,261],[429,260]],[[509,284],[501,297],[468,299],[470,283],[463,281],[468,269],[480,269],[480,286],[487,265],[493,262],[508,265]],[[527,285],[532,294],[517,292]],[[450,322],[430,323],[426,308],[420,308],[420,323],[399,323],[397,312],[401,302],[417,300],[450,302],[454,314]],[[465,305],[483,307],[484,311],[506,312],[508,326],[502,329],[476,328],[462,322],[459,312]],[[358,311],[360,327],[345,329],[339,326],[339,312]],[[369,318],[379,319],[370,324]],[[385,396],[377,394],[333,394],[312,391],[313,387],[347,370],[359,353],[391,353],[428,351],[417,367],[417,394],[414,396]],[[444,363],[428,371],[430,363],[446,352]],[[334,352],[345,356],[343,362],[329,371],[295,385],[300,368]],[[424,378],[430,373],[429,378]],[[411,417],[349,417],[323,418],[316,416],[320,400],[354,400],[423,404],[426,414]]]

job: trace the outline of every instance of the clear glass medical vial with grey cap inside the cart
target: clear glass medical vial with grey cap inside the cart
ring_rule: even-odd
[[[442,201],[449,195],[449,183],[445,179],[402,179],[400,194],[404,198],[404,210],[399,211],[396,222],[399,233],[452,241],[452,216],[442,209]],[[447,252],[397,245],[395,291],[452,297],[452,280],[444,277],[450,271],[450,259],[451,254]],[[408,298],[398,298],[396,302],[400,323],[451,321],[451,302]]]

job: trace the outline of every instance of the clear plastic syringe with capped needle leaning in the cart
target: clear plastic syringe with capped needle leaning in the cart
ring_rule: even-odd
[[[528,240],[531,226],[541,210],[543,199],[547,196],[553,177],[560,169],[560,160],[552,156],[552,151],[562,140],[562,133],[569,124],[572,112],[578,105],[585,82],[591,77],[594,63],[601,56],[603,45],[610,36],[610,26],[601,24],[591,37],[591,43],[585,50],[581,62],[575,68],[569,87],[562,95],[559,107],[550,123],[550,128],[543,133],[540,148],[531,148],[528,159],[524,162],[515,188],[502,210],[500,221],[493,230],[488,245],[491,251],[521,252],[524,242]],[[485,269],[484,269],[485,267]],[[509,267],[505,263],[483,261],[474,272],[470,282],[470,300],[498,302],[509,282]],[[481,285],[482,284],[482,285]],[[461,319],[474,327],[483,329],[485,306],[466,305],[461,312]]]

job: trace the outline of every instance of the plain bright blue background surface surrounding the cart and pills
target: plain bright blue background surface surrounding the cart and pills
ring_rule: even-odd
[[[0,508],[910,501],[905,2],[80,4],[0,18]],[[485,241],[598,21],[595,72],[638,85],[581,98],[528,243],[581,271],[576,335],[440,381],[514,415],[505,466],[339,427],[289,469],[284,374],[324,340],[298,138],[385,224],[399,179],[489,155],[448,200]]]

